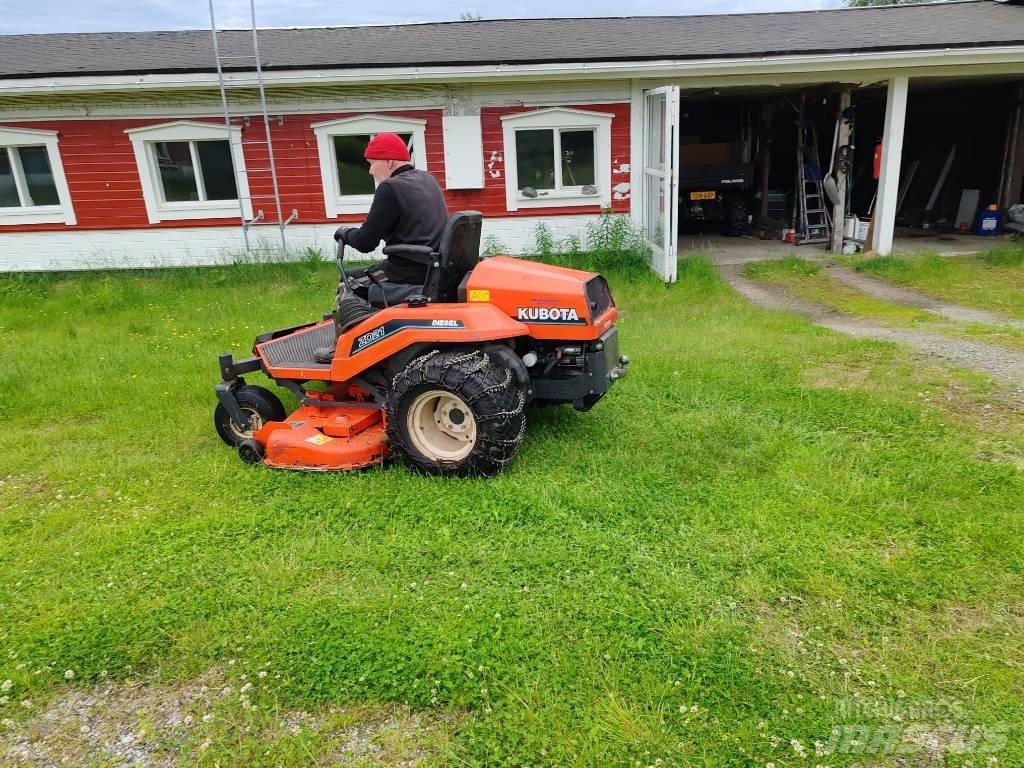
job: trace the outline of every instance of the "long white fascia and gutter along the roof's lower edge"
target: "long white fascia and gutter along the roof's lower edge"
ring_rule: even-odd
[[[864,73],[872,72],[878,72],[881,78],[888,77],[889,73],[894,71],[908,69],[939,68],[949,72],[964,67],[995,67],[1006,70],[1008,66],[1013,72],[1024,73],[1024,45],[654,61],[264,71],[263,82],[268,87],[293,87],[410,82],[452,83],[496,78],[532,81],[564,80],[574,77],[604,80],[659,78],[706,81],[716,77],[799,76],[814,73],[827,73],[829,79],[836,79],[837,74],[849,73],[852,81],[861,79]],[[256,78],[250,73],[226,73],[225,82],[233,87],[256,86]],[[2,95],[216,87],[218,81],[213,73],[0,79]]]

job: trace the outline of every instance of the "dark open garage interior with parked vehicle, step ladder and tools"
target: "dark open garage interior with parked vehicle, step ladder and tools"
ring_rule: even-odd
[[[679,253],[872,250],[889,92],[886,82],[681,90]],[[894,250],[976,251],[1024,232],[1022,110],[1019,77],[909,81]]]

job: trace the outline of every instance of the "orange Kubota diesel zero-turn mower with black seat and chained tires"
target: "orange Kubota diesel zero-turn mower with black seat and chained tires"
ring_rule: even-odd
[[[389,246],[426,265],[423,286],[355,296],[344,268],[334,312],[256,337],[253,356],[220,355],[217,432],[246,462],[356,469],[392,455],[432,474],[493,475],[512,461],[526,403],[590,410],[626,375],[616,310],[599,274],[479,257],[481,217],[454,214],[437,252]],[[339,233],[335,236],[339,238]],[[287,415],[244,374],[299,398]]]

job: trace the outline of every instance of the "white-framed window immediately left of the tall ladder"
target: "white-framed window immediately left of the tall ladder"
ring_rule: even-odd
[[[246,219],[253,217],[252,201],[249,197],[249,178],[246,173],[246,158],[242,151],[242,128],[232,126],[228,132],[227,126],[224,125],[178,120],[173,123],[129,128],[125,133],[131,139],[132,148],[135,151],[135,164],[138,166],[138,176],[142,182],[142,198],[145,201],[145,213],[151,224],[159,224],[165,220],[238,218],[240,199]],[[189,142],[193,165],[196,168],[196,181],[202,195],[203,170],[196,157],[196,145],[190,142],[210,140],[226,140],[231,148],[234,188],[238,190],[239,199],[196,200],[179,203],[165,201],[155,144],[159,141]]]

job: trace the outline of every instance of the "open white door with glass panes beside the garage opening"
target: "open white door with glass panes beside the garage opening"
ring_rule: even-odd
[[[644,91],[643,229],[651,268],[676,282],[679,217],[679,86]]]

